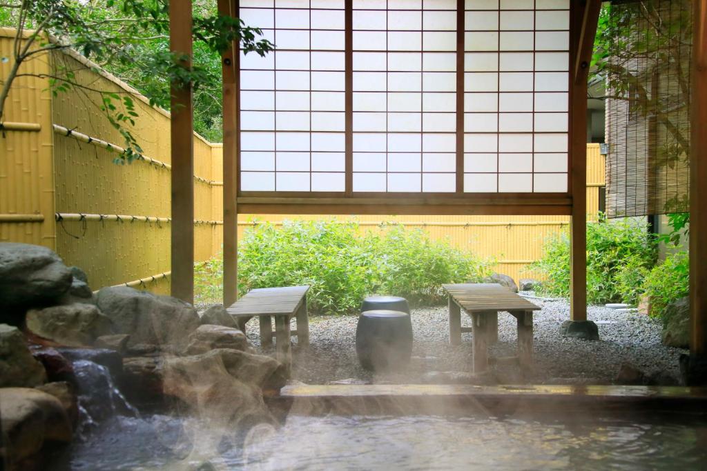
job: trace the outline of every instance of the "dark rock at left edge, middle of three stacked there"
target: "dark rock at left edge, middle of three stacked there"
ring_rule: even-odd
[[[0,388],[33,388],[47,381],[47,372],[30,353],[16,327],[0,324]]]

